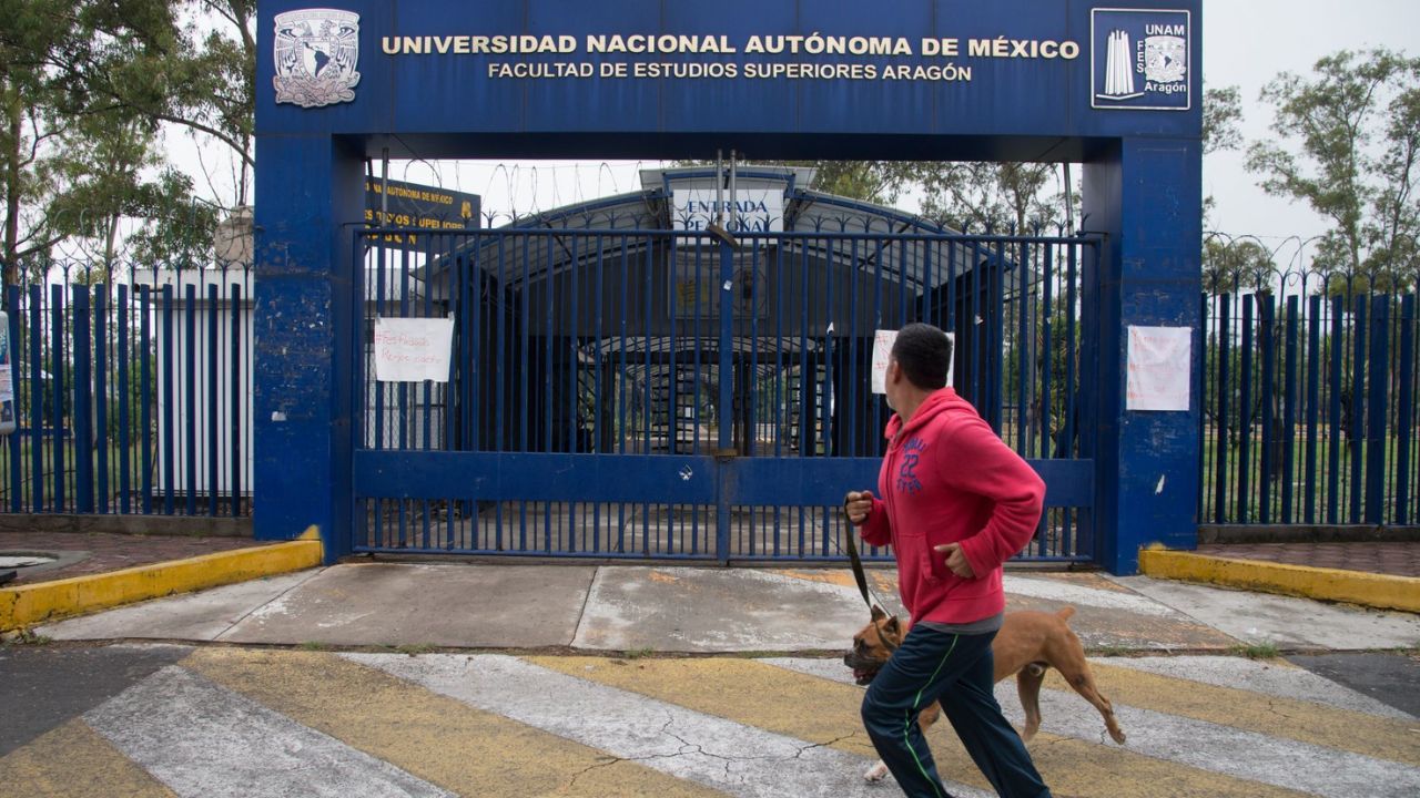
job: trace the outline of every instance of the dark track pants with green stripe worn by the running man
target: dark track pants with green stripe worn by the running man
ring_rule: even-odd
[[[1021,737],[991,693],[991,640],[985,635],[947,635],[914,626],[863,696],[863,727],[909,798],[946,798],[917,714],[941,701],[991,787],[1003,798],[1049,798]]]

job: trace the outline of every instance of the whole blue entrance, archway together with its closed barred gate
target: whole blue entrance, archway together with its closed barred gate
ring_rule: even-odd
[[[728,0],[713,10],[642,0],[594,6],[521,0],[476,9],[435,0],[361,0],[338,11],[261,3],[261,18],[273,20],[274,28],[260,40],[257,80],[257,537],[284,538],[315,525],[328,557],[335,558],[356,547],[386,545],[393,524],[396,548],[447,550],[452,542],[454,550],[498,551],[500,531],[508,544],[508,527],[498,518],[513,513],[520,515],[517,534],[528,535],[524,551],[545,551],[557,523],[564,530],[575,523],[579,531],[561,532],[559,540],[575,541],[577,552],[601,545],[598,554],[605,555],[611,551],[606,534],[625,535],[630,527],[613,530],[601,515],[656,504],[669,510],[640,515],[640,537],[633,542],[642,555],[655,544],[659,555],[733,559],[761,557],[765,550],[784,552],[788,544],[804,557],[834,557],[835,521],[812,508],[836,505],[846,486],[863,483],[863,467],[873,457],[866,443],[855,449],[858,436],[866,442],[880,425],[868,417],[866,403],[848,393],[866,389],[866,376],[852,379],[863,362],[863,329],[845,334],[838,321],[866,319],[852,310],[834,319],[815,317],[814,308],[838,314],[843,301],[865,297],[861,290],[829,295],[826,285],[809,288],[804,281],[801,318],[794,319],[799,329],[768,334],[757,325],[792,317],[765,311],[761,318],[760,297],[787,298],[787,284],[771,284],[755,273],[737,291],[734,277],[744,271],[744,258],[792,263],[818,247],[819,260],[839,261],[839,271],[822,274],[836,274],[841,290],[858,285],[866,280],[866,261],[842,253],[856,243],[875,250],[920,247],[934,253],[924,263],[937,264],[950,263],[963,247],[1011,253],[997,267],[974,261],[958,273],[956,280],[974,280],[976,287],[922,274],[913,283],[910,270],[903,270],[895,283],[878,283],[899,291],[896,305],[882,297],[862,305],[889,312],[880,317],[883,328],[913,318],[947,325],[970,318],[961,337],[964,358],[984,352],[990,355],[984,361],[997,361],[977,362],[971,376],[1001,392],[974,399],[987,413],[998,413],[997,429],[1008,442],[1024,436],[1030,450],[1035,436],[1038,454],[1045,452],[1042,436],[1032,430],[1051,429],[1039,416],[1054,412],[1054,392],[1047,392],[1049,402],[1032,408],[1025,385],[1034,379],[1017,373],[1011,382],[1012,364],[1017,371],[1031,368],[1031,358],[1004,355],[1010,335],[1020,335],[1024,345],[1037,331],[1012,332],[1003,321],[995,334],[994,324],[984,324],[988,317],[976,324],[977,314],[964,312],[963,302],[990,308],[981,284],[987,291],[997,285],[1003,295],[1010,287],[1008,261],[1072,261],[1081,270],[1078,318],[1088,325],[1079,341],[1091,355],[1088,369],[1081,366],[1075,375],[1079,390],[1066,392],[1078,399],[1069,410],[1071,419],[1079,419],[1078,434],[1065,444],[1074,449],[1061,450],[1072,456],[1034,460],[1045,471],[1048,500],[1083,508],[1083,528],[1095,545],[1078,548],[1076,537],[1066,548],[1051,550],[1055,544],[1049,542],[1045,548],[1133,572],[1143,544],[1191,545],[1197,386],[1189,412],[1127,410],[1125,332],[1129,325],[1198,327],[1198,3],[1095,6],[922,0],[885,14],[880,7],[838,0]],[[324,58],[312,61],[307,51]],[[403,437],[396,434],[386,444],[382,434],[388,430],[366,427],[371,398],[361,372],[369,288],[361,241],[371,233],[358,230],[366,159],[386,152],[396,159],[694,158],[731,148],[763,159],[1083,162],[1086,234],[835,239],[792,231],[743,236],[740,250],[710,239],[677,241],[687,237],[666,230],[444,236],[440,257],[430,257],[430,264],[440,258],[444,264],[446,298],[466,294],[464,301],[450,302],[450,312],[480,314],[479,324],[488,324],[488,310],[494,317],[504,314],[491,328],[491,344],[481,338],[456,354],[456,369],[467,373],[453,375],[440,427],[453,446],[433,450],[432,399],[419,422],[423,437],[410,437],[413,430],[400,426]],[[677,270],[704,268],[724,297],[692,290],[692,304],[704,302],[703,310],[713,312],[677,315],[670,308],[674,293],[666,291],[667,312],[660,319],[646,314],[648,328],[639,332],[629,329],[635,317],[628,301],[618,311],[628,329],[588,332],[585,311],[598,308],[605,322],[605,304],[572,301],[569,308],[582,314],[559,314],[558,293],[585,300],[588,247],[606,248],[616,237],[625,239],[625,244],[616,241],[616,251],[628,263],[640,257],[662,264],[665,284],[674,281]],[[815,239],[838,243],[814,244]],[[531,256],[510,260],[510,244]],[[632,254],[632,244],[639,256]],[[703,260],[684,267],[682,256],[690,248]],[[487,260],[494,250],[503,260]],[[569,250],[575,254],[569,263],[578,266],[558,274],[555,263]],[[523,284],[490,283],[488,263],[523,270]],[[608,261],[595,263],[605,277]],[[540,268],[548,270],[541,281]],[[376,280],[385,274],[375,273]],[[656,310],[655,270],[645,274],[649,285],[630,283],[628,273],[618,287],[639,288],[635,297]],[[572,280],[575,288],[564,287]],[[486,304],[490,290],[504,298]],[[480,300],[473,301],[473,294]],[[508,304],[514,297],[520,308]],[[403,312],[416,301],[432,302],[433,295],[416,300],[403,293],[383,301]],[[750,305],[740,308],[746,301]],[[521,327],[510,327],[510,319]],[[473,321],[462,324],[480,329]],[[540,324],[544,334],[537,334]],[[657,324],[666,329],[656,329]],[[694,334],[687,335],[689,329]],[[504,382],[473,376],[498,358],[513,365],[498,378]],[[798,358],[798,366],[768,358]],[[608,368],[612,362],[628,364],[625,376]],[[1001,371],[991,375],[997,366]],[[1191,373],[1191,364],[1187,369]],[[621,388],[609,388],[611,371],[625,381],[618,382]],[[527,381],[530,389],[511,390],[513,378]],[[532,381],[541,382],[541,390],[531,389]],[[564,390],[555,390],[558,383]],[[625,383],[642,393],[639,405]],[[761,400],[768,386],[790,392],[792,383],[814,390],[801,389],[777,403]],[[1014,413],[1011,385],[1024,398]],[[687,392],[689,403],[683,400]],[[381,392],[375,393],[378,425],[382,406]],[[585,393],[591,395],[589,415],[581,399]],[[652,393],[665,400],[652,400]],[[713,399],[700,402],[707,393]],[[494,398],[490,419],[486,410]],[[598,403],[625,410],[628,420],[606,422]],[[765,415],[765,406],[781,417]],[[656,408],[665,409],[663,417]],[[510,426],[510,412],[518,425]],[[764,423],[774,432],[761,444]],[[507,446],[513,434],[517,447]],[[498,436],[501,446],[488,449]],[[782,447],[795,440],[799,452],[782,456]],[[606,450],[611,443],[616,452]],[[780,446],[778,456],[765,456],[761,449],[772,446]],[[683,459],[683,469],[650,461],[665,457]],[[541,503],[541,511],[528,503]],[[581,507],[561,510],[571,504]],[[736,548],[741,545],[734,541],[737,520],[760,528],[750,523],[755,514],[782,518],[785,507],[809,508],[794,511],[787,540],[785,527],[775,524],[781,534],[772,540],[751,537],[753,552],[748,542]],[[488,511],[491,545],[484,528]],[[446,518],[443,537],[436,535],[437,513]],[[541,520],[540,540],[535,527],[521,523],[528,514]],[[707,527],[714,530],[713,548],[700,534]],[[358,532],[349,534],[352,528]],[[586,531],[591,547],[584,544]],[[799,540],[804,544],[795,548]],[[538,550],[534,542],[544,545]],[[571,542],[558,545],[572,552]]]

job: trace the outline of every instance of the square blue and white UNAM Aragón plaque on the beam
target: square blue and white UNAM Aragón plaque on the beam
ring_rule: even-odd
[[[1091,106],[1187,111],[1193,102],[1189,11],[1093,9]]]

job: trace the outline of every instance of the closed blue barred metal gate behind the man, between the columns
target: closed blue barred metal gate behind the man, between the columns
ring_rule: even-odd
[[[958,392],[1047,481],[1022,557],[1095,557],[1092,239],[355,236],[354,551],[838,559],[843,491],[876,484],[885,447],[873,334],[929,321],[956,334]],[[452,318],[447,381],[378,382],[381,318]]]

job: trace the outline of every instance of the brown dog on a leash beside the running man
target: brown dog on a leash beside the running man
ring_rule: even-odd
[[[1015,674],[1015,689],[1025,710],[1021,740],[1028,743],[1041,728],[1041,683],[1045,682],[1045,669],[1054,667],[1076,693],[1099,710],[1109,736],[1123,745],[1125,733],[1115,720],[1115,709],[1109,704],[1109,699],[1095,689],[1095,674],[1085,662],[1085,646],[1069,628],[1068,621],[1072,615],[1075,615],[1074,606],[1066,606],[1054,615],[1037,611],[1007,612],[1001,630],[991,640],[991,657],[995,663],[993,676],[1000,682]],[[892,652],[902,645],[902,638],[903,629],[897,616],[889,616],[875,606],[873,619],[862,632],[853,635],[853,647],[843,655],[843,665],[853,669],[853,677],[859,684],[868,684],[892,657]],[[937,721],[940,713],[941,704],[937,703],[922,710],[917,723],[923,733]],[[863,775],[869,781],[878,781],[888,775],[888,767],[878,763]]]

